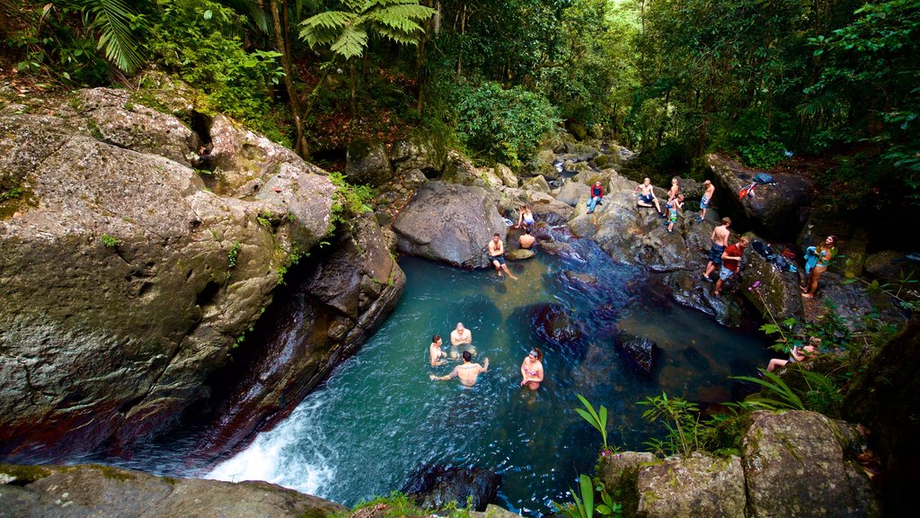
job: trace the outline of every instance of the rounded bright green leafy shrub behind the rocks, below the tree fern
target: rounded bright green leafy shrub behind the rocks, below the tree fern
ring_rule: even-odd
[[[470,151],[521,166],[540,139],[558,123],[546,98],[498,83],[462,84],[453,92],[452,119],[457,138]]]

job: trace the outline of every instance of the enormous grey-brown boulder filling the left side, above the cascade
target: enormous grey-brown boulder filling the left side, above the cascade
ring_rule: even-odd
[[[129,112],[99,108],[121,98],[77,96],[98,102],[52,100],[53,114],[0,116],[0,169],[26,193],[0,218],[0,455],[8,458],[127,444],[174,422],[209,394],[208,376],[270,305],[292,256],[331,225],[334,186],[289,150],[247,141],[259,164],[247,171],[265,187],[245,199],[219,195],[169,158],[185,138],[171,136],[175,120],[132,106],[151,142],[172,142],[167,157],[149,154],[124,147],[132,141],[114,129],[117,144],[87,128],[87,117],[99,128],[129,127],[104,118]],[[227,157],[226,171],[243,162]]]

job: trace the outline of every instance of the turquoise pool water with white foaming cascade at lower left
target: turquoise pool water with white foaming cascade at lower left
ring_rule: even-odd
[[[642,270],[616,265],[592,241],[569,245],[561,257],[511,264],[516,281],[401,260],[406,290],[383,327],[289,418],[209,477],[268,480],[353,505],[402,488],[424,465],[477,465],[502,476],[503,506],[551,512],[577,474],[592,473],[601,446],[572,410],[576,394],[609,407],[612,445],[641,449],[661,430],[642,420],[637,401],[662,391],[725,401],[728,376],[752,374],[770,358],[763,336],[673,304]],[[541,340],[535,309],[544,304],[569,315],[581,334],[575,346]],[[429,379],[454,365],[428,365],[431,336],[449,346],[457,322],[472,331],[477,360],[490,362],[472,389]],[[616,353],[615,329],[657,342],[651,376]],[[535,393],[520,387],[534,346],[546,353],[546,382]]]

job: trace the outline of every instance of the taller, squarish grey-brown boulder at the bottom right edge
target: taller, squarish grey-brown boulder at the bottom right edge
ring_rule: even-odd
[[[754,412],[742,460],[752,515],[880,516],[872,483],[852,460],[861,441],[855,426],[814,412]]]

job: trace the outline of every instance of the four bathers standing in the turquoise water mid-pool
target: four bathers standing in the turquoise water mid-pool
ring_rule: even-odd
[[[454,378],[460,381],[460,384],[471,387],[474,386],[479,378],[479,374],[489,371],[489,359],[484,358],[482,365],[473,362],[476,355],[476,347],[473,347],[473,333],[464,327],[463,323],[458,322],[454,331],[451,331],[451,350],[450,353],[443,350],[443,340],[440,335],[431,337],[431,346],[428,347],[429,361],[431,367],[438,367],[447,362],[447,358],[460,359],[460,363],[453,370],[438,376],[429,374],[431,381],[445,381]],[[543,351],[539,347],[533,347],[521,364],[521,386],[530,390],[540,388],[543,382]]]

